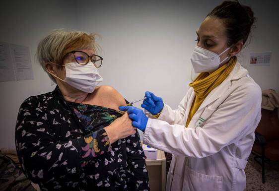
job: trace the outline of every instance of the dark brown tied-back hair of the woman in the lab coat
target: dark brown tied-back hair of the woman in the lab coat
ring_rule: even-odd
[[[252,9],[240,4],[238,0],[223,1],[213,8],[208,16],[214,16],[222,20],[226,28],[228,46],[237,43],[239,40],[242,40],[245,44],[256,20]]]

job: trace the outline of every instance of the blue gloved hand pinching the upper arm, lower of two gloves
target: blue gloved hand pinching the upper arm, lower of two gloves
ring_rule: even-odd
[[[148,118],[145,116],[143,111],[133,106],[120,106],[119,110],[127,111],[129,118],[133,120],[132,125],[144,131]]]

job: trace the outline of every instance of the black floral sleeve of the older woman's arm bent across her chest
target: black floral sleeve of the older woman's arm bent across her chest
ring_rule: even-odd
[[[104,129],[61,141],[51,129],[58,122],[47,119],[49,111],[42,105],[38,97],[25,100],[15,128],[18,158],[24,174],[33,182],[76,177],[90,159],[111,150]]]

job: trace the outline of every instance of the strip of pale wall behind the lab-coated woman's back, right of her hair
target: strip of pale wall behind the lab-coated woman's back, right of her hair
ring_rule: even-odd
[[[278,0],[244,0],[258,18],[250,45],[243,51],[241,59],[250,75],[262,90],[275,89],[279,93],[279,18]],[[250,53],[272,52],[270,66],[249,66]]]

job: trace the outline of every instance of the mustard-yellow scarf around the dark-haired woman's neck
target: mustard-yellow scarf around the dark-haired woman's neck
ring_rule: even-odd
[[[228,63],[222,65],[217,70],[212,72],[209,75],[209,72],[202,72],[200,73],[194,81],[192,81],[189,85],[194,88],[195,92],[195,98],[193,100],[190,113],[188,115],[186,127],[188,127],[192,117],[197,112],[203,101],[206,99],[206,97],[209,95],[209,93],[226,77],[229,75],[229,73],[232,71],[236,64],[237,58],[232,57]]]

